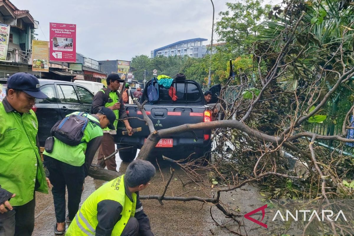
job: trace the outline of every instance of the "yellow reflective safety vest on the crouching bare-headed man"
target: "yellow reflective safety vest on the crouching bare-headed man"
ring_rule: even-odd
[[[125,194],[124,175],[102,185],[93,192],[82,204],[70,224],[66,236],[95,236],[97,221],[97,204],[103,200],[113,200],[123,206],[122,217],[115,224],[112,235],[120,236],[130,217],[134,217],[136,193],[132,193],[133,202]]]

